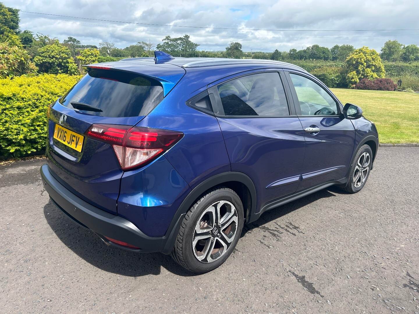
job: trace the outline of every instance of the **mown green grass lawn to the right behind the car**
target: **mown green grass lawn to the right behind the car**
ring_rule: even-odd
[[[362,108],[380,143],[419,143],[419,94],[331,88],[339,100]]]

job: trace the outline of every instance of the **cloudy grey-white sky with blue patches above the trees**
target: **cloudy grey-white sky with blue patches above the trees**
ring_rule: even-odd
[[[73,36],[83,44],[109,41],[120,48],[137,41],[151,40],[158,44],[164,36],[178,37],[185,33],[200,44],[200,50],[224,50],[230,41],[241,42],[245,51],[288,51],[312,44],[328,47],[352,44],[380,50],[389,39],[406,45],[419,44],[419,0],[1,1],[22,11],[143,23],[53,15],[41,18],[37,13],[21,12],[21,30],[57,37],[60,41]]]

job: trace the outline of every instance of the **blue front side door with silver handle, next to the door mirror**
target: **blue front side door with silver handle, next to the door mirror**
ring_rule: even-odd
[[[354,149],[352,122],[343,118],[339,101],[321,82],[300,72],[285,73],[305,130],[305,158],[298,190],[344,178]]]

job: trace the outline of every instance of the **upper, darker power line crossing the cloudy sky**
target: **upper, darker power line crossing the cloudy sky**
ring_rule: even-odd
[[[43,15],[61,16],[65,18],[81,18],[84,20],[94,20],[103,22],[114,22],[114,23],[127,23],[127,24],[138,24],[138,25],[150,25],[150,26],[170,26],[170,27],[187,27],[187,28],[207,28],[207,29],[224,29],[224,30],[243,30],[243,31],[295,31],[295,32],[343,32],[343,31],[419,31],[419,28],[399,28],[399,29],[342,29],[342,30],[331,30],[331,29],[264,29],[264,28],[229,28],[229,27],[207,27],[207,26],[184,26],[184,25],[170,25],[170,24],[152,24],[152,23],[137,23],[137,22],[126,22],[126,21],[112,21],[112,20],[101,20],[98,18],[82,18],[79,16],[59,15],[41,12],[31,11],[20,11],[25,13],[36,13]]]

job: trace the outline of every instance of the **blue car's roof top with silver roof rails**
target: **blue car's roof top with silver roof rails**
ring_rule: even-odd
[[[295,64],[281,62],[276,60],[265,60],[265,59],[229,59],[229,58],[182,58],[182,57],[172,57],[171,59],[165,60],[163,62],[156,61],[155,58],[127,58],[122,59],[118,62],[130,62],[130,63],[143,63],[147,62],[150,64],[153,62],[155,65],[162,64],[173,64],[178,67],[187,68],[199,68],[199,67],[216,67],[216,66],[228,66],[235,67],[237,65],[249,64],[249,65],[267,65],[272,64],[275,67],[287,68],[287,69],[299,69],[300,71],[305,71],[302,67],[298,67]],[[151,64],[150,64],[151,65]]]

